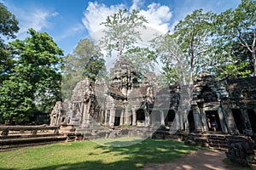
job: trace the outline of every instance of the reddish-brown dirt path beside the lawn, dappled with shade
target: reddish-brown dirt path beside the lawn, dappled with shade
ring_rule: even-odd
[[[228,165],[224,164],[224,151],[218,150],[199,150],[194,151],[188,156],[173,160],[167,163],[148,163],[143,170],[224,170],[230,169]]]

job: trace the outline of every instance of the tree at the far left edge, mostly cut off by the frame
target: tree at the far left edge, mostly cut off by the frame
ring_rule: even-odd
[[[15,15],[0,3],[0,84],[8,76],[14,60],[9,56],[8,45],[4,39],[15,38],[15,33],[19,31],[18,20]]]

